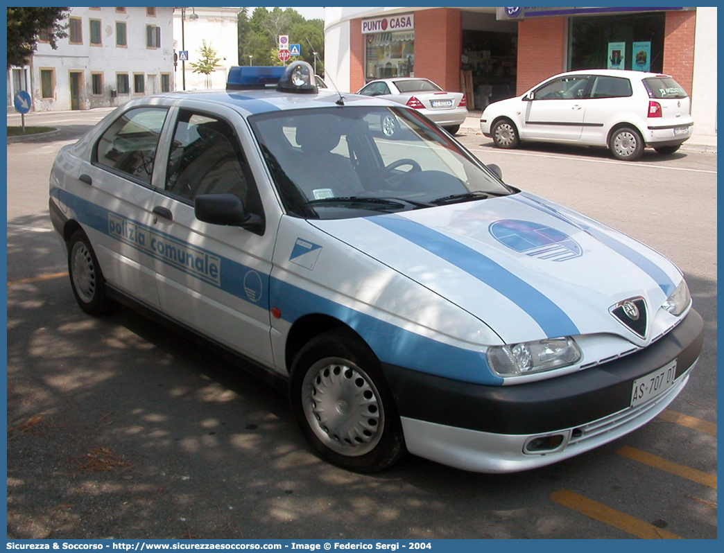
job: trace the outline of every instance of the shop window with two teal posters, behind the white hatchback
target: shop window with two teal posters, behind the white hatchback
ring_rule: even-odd
[[[568,69],[662,72],[666,14],[572,17]]]

